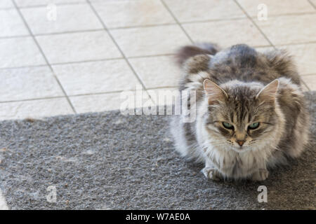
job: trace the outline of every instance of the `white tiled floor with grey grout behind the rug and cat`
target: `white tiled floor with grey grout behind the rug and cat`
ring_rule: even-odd
[[[159,104],[174,50],[199,41],[285,48],[316,90],[315,21],[316,0],[0,0],[0,120],[119,109],[139,88]]]

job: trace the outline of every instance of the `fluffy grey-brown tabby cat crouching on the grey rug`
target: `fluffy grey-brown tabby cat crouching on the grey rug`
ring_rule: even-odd
[[[203,162],[208,179],[264,181],[268,169],[301,155],[309,116],[301,80],[284,50],[257,52],[245,44],[220,50],[204,43],[180,48],[179,90],[196,92],[196,119],[174,116],[176,150]]]

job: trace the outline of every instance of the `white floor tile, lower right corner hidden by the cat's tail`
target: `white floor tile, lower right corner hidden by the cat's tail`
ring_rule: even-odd
[[[110,31],[127,57],[171,54],[190,40],[178,25]]]

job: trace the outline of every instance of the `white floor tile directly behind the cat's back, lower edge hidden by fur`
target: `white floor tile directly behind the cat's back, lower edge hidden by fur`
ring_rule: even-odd
[[[251,46],[270,45],[248,19],[199,22],[183,25],[195,42],[213,42],[222,47],[237,43]]]

